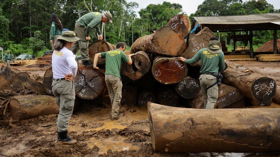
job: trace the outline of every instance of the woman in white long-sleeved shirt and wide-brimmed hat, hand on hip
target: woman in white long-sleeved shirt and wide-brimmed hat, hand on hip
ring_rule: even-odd
[[[57,38],[52,56],[53,83],[52,90],[56,103],[60,107],[57,118],[57,142],[72,145],[77,140],[71,139],[68,134],[68,123],[72,115],[75,102],[75,88],[73,78],[76,76],[78,64],[69,49],[79,38],[73,31],[65,31]]]

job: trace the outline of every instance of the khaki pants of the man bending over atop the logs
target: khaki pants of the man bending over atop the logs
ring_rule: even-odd
[[[77,51],[81,49],[82,60],[89,60],[88,55],[88,45],[89,41],[86,40],[86,28],[85,26],[80,26],[77,22],[75,24],[75,36],[80,38],[80,40],[76,41],[71,48],[71,51],[74,55],[76,55]]]

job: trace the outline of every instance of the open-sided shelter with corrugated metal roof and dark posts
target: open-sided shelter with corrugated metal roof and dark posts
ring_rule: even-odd
[[[234,49],[236,41],[235,32],[250,31],[250,48],[252,49],[252,31],[273,30],[273,54],[277,53],[277,30],[280,29],[280,13],[235,16],[199,16],[194,17],[192,28],[197,25],[199,26],[198,29],[208,27],[211,31],[234,32]],[[242,39],[239,39],[239,41],[240,40]]]

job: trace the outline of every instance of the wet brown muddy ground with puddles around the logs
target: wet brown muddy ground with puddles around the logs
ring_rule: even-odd
[[[244,62],[244,61],[243,61]],[[248,61],[245,61],[248,62]],[[240,64],[240,63],[239,63]],[[263,64],[260,64],[263,65]],[[280,67],[279,63],[269,64]],[[245,65],[247,66],[247,65]],[[254,65],[256,66],[256,65]],[[18,68],[18,67],[15,67]],[[21,69],[21,67],[19,68]],[[22,68],[25,69],[25,68]],[[26,70],[26,69],[25,69]],[[44,74],[45,68],[30,69]],[[1,91],[1,98],[34,94],[31,91]],[[5,101],[4,99],[1,99]],[[122,106],[119,120],[110,120],[110,105],[92,100],[80,103],[70,121],[68,134],[78,142],[73,146],[56,143],[57,115],[0,124],[1,156],[279,156],[250,153],[164,153],[154,152],[149,132],[146,107]],[[1,108],[0,108],[1,109]],[[7,115],[8,116],[8,115]],[[7,120],[7,117],[2,120]]]

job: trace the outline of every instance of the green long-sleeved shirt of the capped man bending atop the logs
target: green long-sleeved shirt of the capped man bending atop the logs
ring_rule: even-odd
[[[101,23],[101,13],[99,12],[90,12],[86,15],[83,15],[77,20],[77,23],[80,26],[84,26],[86,29],[86,37],[89,36],[91,29],[95,28],[98,35],[101,34],[99,29],[99,24]]]

